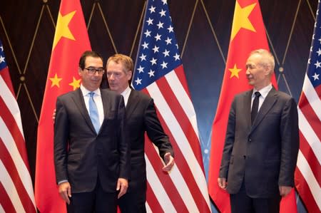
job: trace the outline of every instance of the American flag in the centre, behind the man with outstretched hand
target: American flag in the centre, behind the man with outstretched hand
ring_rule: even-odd
[[[148,1],[138,47],[133,88],[151,95],[175,152],[164,174],[146,143],[148,212],[210,212],[198,126],[166,0]]]

